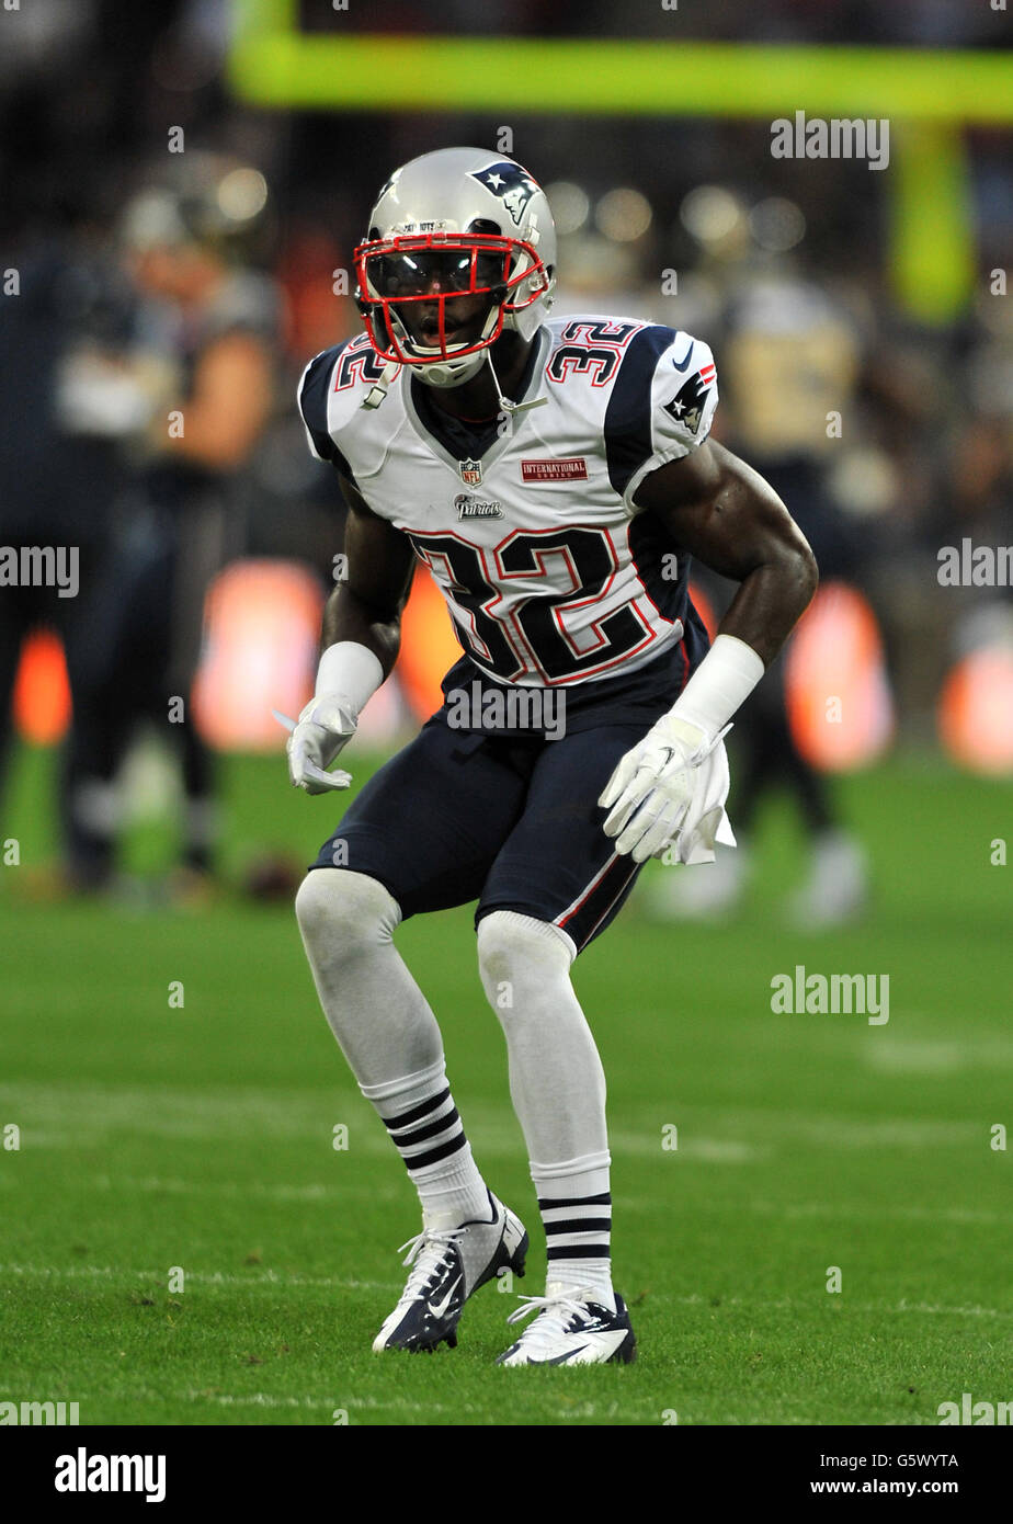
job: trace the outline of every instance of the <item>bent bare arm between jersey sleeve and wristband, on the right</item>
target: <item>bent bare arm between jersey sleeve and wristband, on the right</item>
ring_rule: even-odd
[[[816,591],[816,561],[763,477],[714,440],[652,471],[635,494],[687,550],[740,584],[721,623],[768,666]]]

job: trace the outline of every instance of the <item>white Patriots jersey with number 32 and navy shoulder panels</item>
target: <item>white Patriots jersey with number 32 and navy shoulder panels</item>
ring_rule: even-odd
[[[634,494],[699,448],[717,404],[705,343],[657,323],[564,317],[538,331],[521,402],[481,454],[455,457],[401,369],[361,335],[306,367],[309,445],[411,539],[463,649],[492,678],[562,686],[634,672],[684,637],[687,562]]]

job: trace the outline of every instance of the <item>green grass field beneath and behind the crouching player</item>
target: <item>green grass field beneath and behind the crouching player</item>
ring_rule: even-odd
[[[876,872],[859,928],[785,928],[801,858],[772,808],[736,925],[664,928],[631,905],[580,959],[640,1358],[504,1372],[516,1303],[492,1286],[455,1350],[370,1353],[417,1209],[291,910],[29,898],[53,850],[52,767],[18,756],[0,828],[21,849],[0,867],[0,1137],[20,1128],[0,1149],[0,1401],[75,1401],[82,1423],[932,1425],[964,1391],[1013,1399],[1013,1141],[990,1131],[1013,1128],[1013,867],[990,864],[1008,786],[899,762],[847,780]],[[291,791],[280,759],[230,760],[225,791],[232,875],[251,843],[308,861],[332,828],[334,802]],[[136,832],[136,866],[165,846]],[[399,946],[475,1157],[532,1230],[515,1289],[541,1292],[471,911],[413,920]],[[774,1015],[771,978],[797,963],[888,974],[890,1021]]]

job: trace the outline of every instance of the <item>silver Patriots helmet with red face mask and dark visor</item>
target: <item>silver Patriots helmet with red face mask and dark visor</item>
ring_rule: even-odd
[[[463,386],[500,334],[530,340],[556,285],[556,229],[513,158],[442,148],[396,169],[355,250],[356,300],[376,354],[428,386]]]

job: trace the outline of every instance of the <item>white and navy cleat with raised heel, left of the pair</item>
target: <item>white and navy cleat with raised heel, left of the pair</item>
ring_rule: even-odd
[[[404,1263],[411,1265],[411,1274],[398,1306],[373,1340],[375,1353],[388,1349],[431,1353],[443,1340],[454,1349],[468,1297],[501,1269],[524,1276],[524,1224],[492,1192],[489,1213],[486,1221],[423,1228],[401,1245],[408,1250]]]

